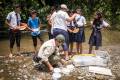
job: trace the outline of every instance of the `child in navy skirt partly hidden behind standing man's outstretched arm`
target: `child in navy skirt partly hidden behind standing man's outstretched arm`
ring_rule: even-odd
[[[73,11],[68,12],[69,16],[73,15]],[[69,34],[69,52],[70,54],[73,53],[73,43],[75,42],[75,33],[73,33],[73,30],[75,28],[74,22],[68,22],[68,34]]]

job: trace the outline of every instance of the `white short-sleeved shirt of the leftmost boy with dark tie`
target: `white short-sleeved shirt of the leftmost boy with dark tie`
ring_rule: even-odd
[[[21,21],[20,14],[17,13],[17,16],[18,16],[18,20],[15,11],[8,13],[6,19],[10,21],[10,25],[11,25],[10,29],[15,28],[17,26],[17,22],[20,23]]]

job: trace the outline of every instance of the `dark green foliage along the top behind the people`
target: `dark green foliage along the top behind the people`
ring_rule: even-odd
[[[36,9],[42,23],[46,23],[46,16],[50,13],[50,7],[64,3],[72,10],[80,7],[88,21],[93,18],[94,12],[99,10],[113,26],[120,24],[120,0],[1,0],[1,20],[5,20],[6,15],[12,11],[12,6],[15,3],[22,5],[21,17],[25,22],[29,17],[29,11]]]

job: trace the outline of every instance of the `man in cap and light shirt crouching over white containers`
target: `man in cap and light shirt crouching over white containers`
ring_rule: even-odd
[[[53,70],[52,63],[63,62],[60,56],[59,47],[63,45],[65,37],[63,35],[58,35],[54,39],[50,39],[43,43],[40,47],[37,56],[33,57],[33,60],[37,63],[44,63],[50,71]]]

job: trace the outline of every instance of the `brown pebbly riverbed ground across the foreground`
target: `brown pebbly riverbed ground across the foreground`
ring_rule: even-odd
[[[88,67],[76,67],[69,75],[63,75],[61,80],[119,80],[120,79],[120,46],[104,46],[110,55],[108,68],[113,76],[89,73]],[[32,61],[32,53],[25,52],[23,56],[12,59],[0,57],[0,80],[52,80],[52,72],[43,66],[38,69]]]

